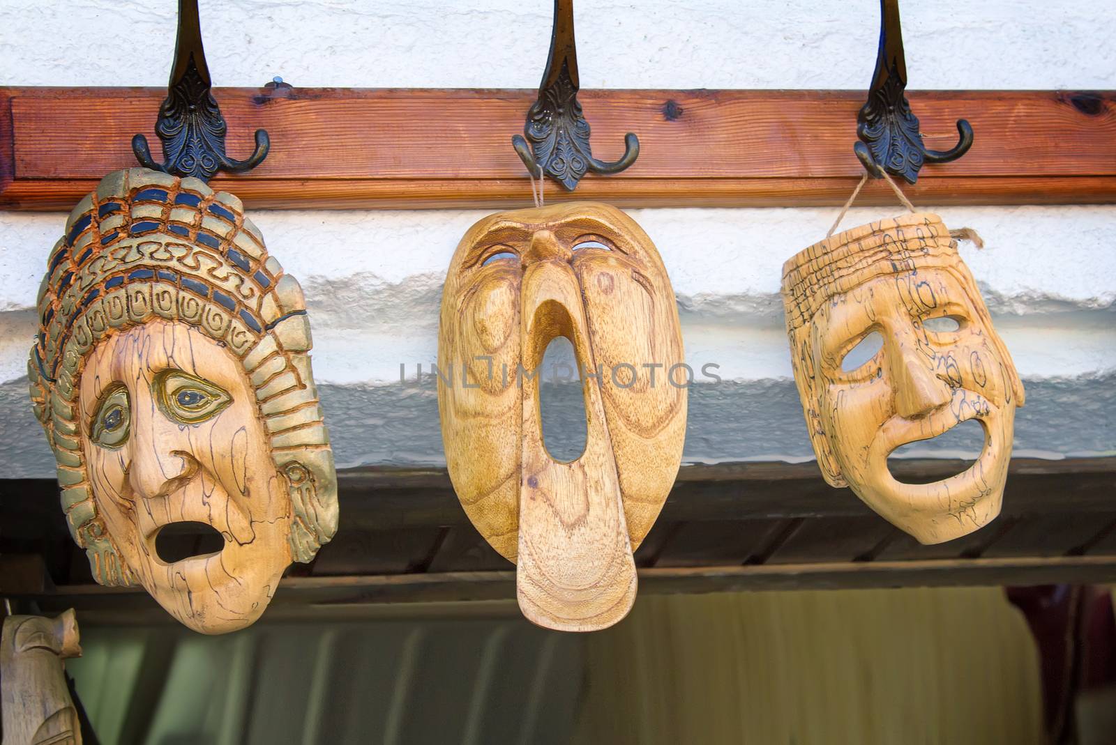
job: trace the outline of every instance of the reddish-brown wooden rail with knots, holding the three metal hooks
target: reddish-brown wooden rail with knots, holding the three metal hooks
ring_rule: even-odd
[[[154,138],[161,88],[0,88],[0,209],[69,210]],[[511,135],[533,90],[224,88],[229,153],[272,149],[256,171],[218,177],[256,209],[498,207],[530,188]],[[860,176],[853,154],[860,90],[583,90],[603,159],[639,136],[622,174],[573,194],[622,206],[839,205]],[[964,158],[927,166],[915,204],[1116,203],[1116,91],[908,94],[931,147],[977,133]],[[941,142],[939,142],[941,139]],[[615,152],[614,152],[615,151]],[[858,204],[893,204],[873,182]]]

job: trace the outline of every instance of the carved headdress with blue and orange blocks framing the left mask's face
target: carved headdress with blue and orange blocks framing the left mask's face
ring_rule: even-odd
[[[269,257],[235,196],[196,178],[117,171],[70,213],[39,290],[28,364],[35,414],[58,461],[62,509],[103,584],[133,584],[98,515],[81,447],[78,381],[98,341],[181,321],[243,366],[291,497],[291,555],[309,561],[337,529],[333,453],[310,370],[298,281]]]

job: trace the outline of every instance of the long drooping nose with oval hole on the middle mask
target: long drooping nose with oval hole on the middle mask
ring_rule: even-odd
[[[536,261],[522,280],[523,367],[538,370],[557,335],[591,366],[595,355],[574,268],[538,260],[562,255],[550,233],[536,236],[528,255]],[[538,377],[522,385],[517,598],[533,623],[565,631],[612,626],[632,608],[637,583],[600,379],[588,375],[581,384],[585,451],[571,463],[555,461],[542,442]]]

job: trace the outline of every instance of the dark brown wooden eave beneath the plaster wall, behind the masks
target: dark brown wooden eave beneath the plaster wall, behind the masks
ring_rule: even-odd
[[[906,461],[895,471],[927,481],[961,467]],[[469,523],[444,471],[338,476],[340,530],[312,564],[288,571],[269,615],[514,597],[513,567]],[[93,583],[52,481],[4,481],[0,490],[0,594],[106,620],[160,618],[142,589]],[[930,546],[850,491],[827,486],[814,463],[684,466],[636,561],[642,593],[1112,582],[1116,457],[1016,458],[1000,517]]]

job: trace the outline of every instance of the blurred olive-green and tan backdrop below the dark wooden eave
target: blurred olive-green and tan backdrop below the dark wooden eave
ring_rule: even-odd
[[[1042,741],[1035,647],[994,588],[641,596],[584,636],[484,607],[85,623],[67,667],[106,744]]]

